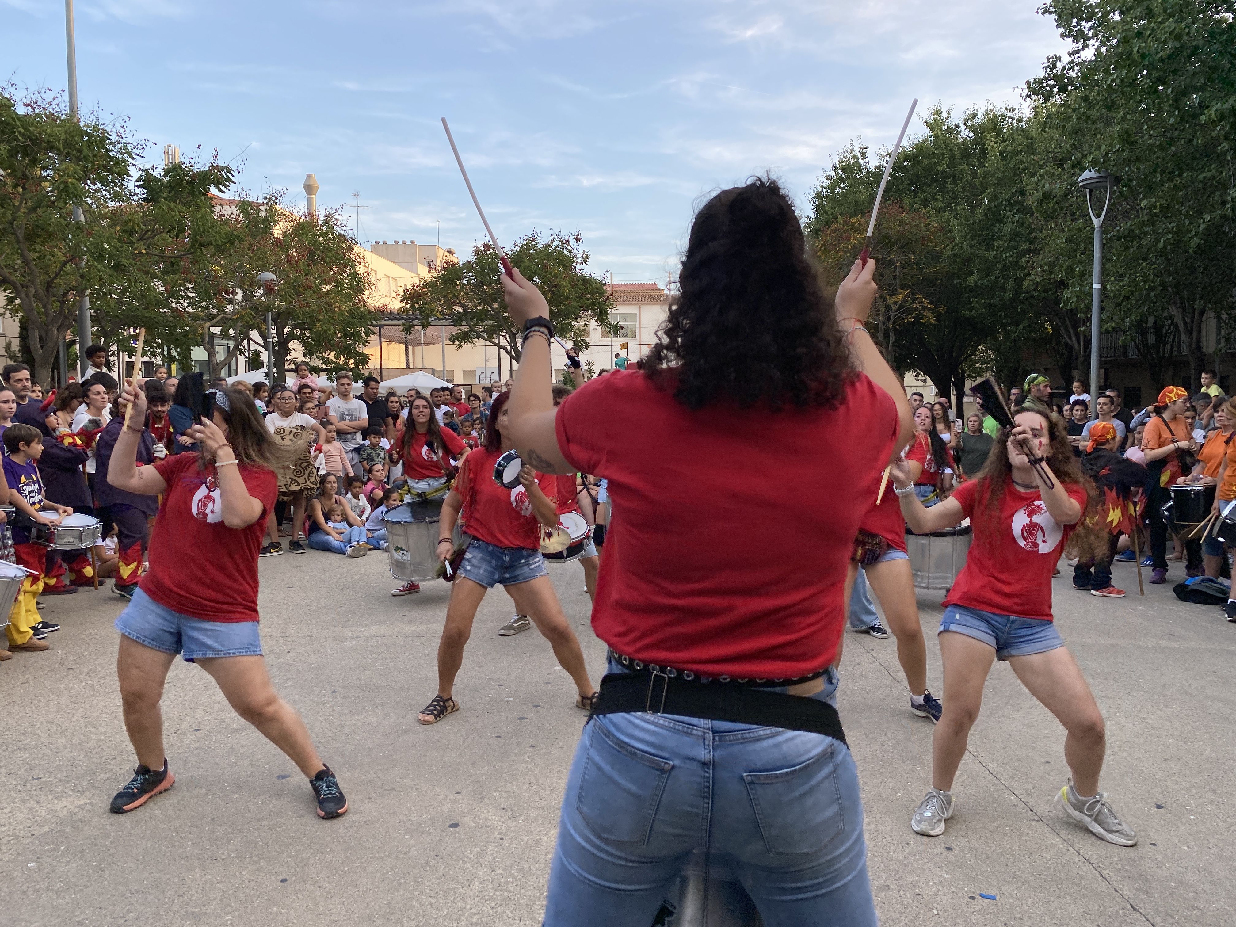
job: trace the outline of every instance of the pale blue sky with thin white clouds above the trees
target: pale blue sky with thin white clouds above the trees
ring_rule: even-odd
[[[1017,101],[1062,52],[1038,0],[79,0],[84,111],[161,162],[218,150],[239,187],[307,172],[360,193],[360,240],[483,236],[446,116],[506,243],[580,230],[596,272],[665,282],[708,193],[771,169],[800,197],[855,137],[892,142],[912,98]],[[64,6],[0,0],[0,80],[66,85]],[[913,132],[913,126],[911,126]],[[243,151],[243,154],[240,154]]]

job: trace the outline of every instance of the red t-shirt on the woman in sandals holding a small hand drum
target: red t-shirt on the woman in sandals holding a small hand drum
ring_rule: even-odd
[[[493,466],[502,451],[483,447],[472,451],[460,465],[455,492],[464,499],[465,530],[473,538],[499,548],[540,548],[540,522],[533,514],[533,503],[523,485],[507,489],[493,478]],[[554,477],[536,475],[536,483],[546,496],[552,494]]]

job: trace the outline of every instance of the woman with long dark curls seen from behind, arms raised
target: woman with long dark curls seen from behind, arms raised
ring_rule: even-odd
[[[875,923],[833,662],[853,539],[910,404],[863,325],[874,262],[834,300],[807,253],[775,182],[717,194],[643,368],[556,410],[549,307],[503,278],[524,326],[515,446],[613,498],[592,611],[608,672],[562,801],[550,927],[651,923],[695,853],[733,860],[765,923]]]

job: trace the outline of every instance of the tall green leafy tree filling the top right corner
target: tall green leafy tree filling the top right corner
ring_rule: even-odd
[[[1195,382],[1205,316],[1236,309],[1231,4],[1049,0],[1041,11],[1073,47],[1048,59],[1028,96],[1058,105],[1072,171],[1120,177],[1105,299],[1126,318],[1170,315]]]

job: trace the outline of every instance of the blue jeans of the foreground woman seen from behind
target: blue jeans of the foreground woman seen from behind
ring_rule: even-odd
[[[829,670],[815,697],[836,690]],[[603,714],[585,726],[567,777],[545,927],[650,925],[697,848],[728,864],[766,927],[876,923],[858,769],[843,744]]]

